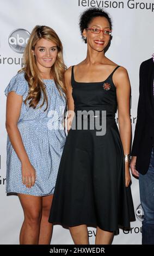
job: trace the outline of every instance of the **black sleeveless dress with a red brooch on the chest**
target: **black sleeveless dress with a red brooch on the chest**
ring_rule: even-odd
[[[89,115],[82,118],[88,120],[87,130],[82,125],[69,131],[49,222],[64,227],[87,224],[115,231],[118,227],[129,228],[130,221],[135,220],[131,188],[125,187],[124,152],[115,122],[117,102],[112,80],[115,70],[103,82],[83,83],[75,81],[72,67],[76,113],[73,121],[77,120],[78,112],[93,111],[96,124],[95,113],[106,111],[106,133],[97,136],[95,127],[90,129]]]

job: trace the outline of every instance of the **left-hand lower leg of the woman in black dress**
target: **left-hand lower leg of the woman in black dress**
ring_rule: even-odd
[[[69,229],[75,245],[89,245],[87,225],[78,225]]]

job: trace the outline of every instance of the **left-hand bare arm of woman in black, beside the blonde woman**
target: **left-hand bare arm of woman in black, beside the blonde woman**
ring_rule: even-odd
[[[74,101],[72,97],[72,86],[71,86],[71,71],[72,67],[66,70],[65,72],[65,85],[67,89],[67,106],[68,106],[68,113],[67,113],[67,132],[69,132],[72,124],[72,119],[74,116]]]

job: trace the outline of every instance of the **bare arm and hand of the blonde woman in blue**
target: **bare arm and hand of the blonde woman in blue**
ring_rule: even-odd
[[[10,92],[7,97],[6,129],[10,142],[22,165],[22,182],[26,187],[31,187],[35,182],[35,169],[30,164],[26,150],[22,142],[17,122],[20,117],[22,96]]]

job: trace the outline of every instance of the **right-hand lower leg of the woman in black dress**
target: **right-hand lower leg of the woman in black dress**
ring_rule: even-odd
[[[111,245],[113,237],[113,232],[104,231],[97,227],[95,245]]]

